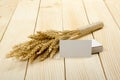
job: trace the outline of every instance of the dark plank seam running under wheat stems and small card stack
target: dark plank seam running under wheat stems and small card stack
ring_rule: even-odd
[[[82,3],[83,3],[83,7],[84,7],[84,10],[85,10],[85,14],[86,14],[88,23],[90,24],[90,20],[89,20],[89,18],[88,18],[88,13],[87,13],[87,10],[86,10],[86,7],[85,7],[84,0],[82,0]],[[94,33],[92,33],[92,36],[93,36],[93,39],[95,39]],[[104,74],[104,76],[105,76],[105,79],[108,80],[108,79],[107,79],[107,76],[106,76],[106,73],[105,73],[105,69],[104,69],[104,67],[103,67],[103,63],[102,63],[101,57],[100,57],[99,53],[98,53],[97,55],[98,55],[98,57],[99,57],[99,61],[100,61],[100,64],[101,64],[101,67],[102,67],[102,70],[103,70],[103,74]]]

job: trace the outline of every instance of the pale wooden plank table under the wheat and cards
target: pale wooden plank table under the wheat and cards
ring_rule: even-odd
[[[104,51],[90,58],[54,58],[30,64],[5,58],[36,31],[72,30],[97,21]],[[120,80],[119,0],[0,0],[0,80]]]

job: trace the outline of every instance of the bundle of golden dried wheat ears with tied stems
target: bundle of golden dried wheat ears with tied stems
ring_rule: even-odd
[[[21,61],[30,60],[33,62],[38,59],[43,61],[48,57],[53,58],[59,51],[59,41],[67,39],[77,39],[91,32],[94,32],[103,27],[103,23],[95,23],[83,27],[83,29],[77,30],[65,30],[65,31],[46,31],[37,32],[34,35],[30,35],[30,41],[18,44],[13,47],[13,50],[7,54],[7,58],[16,57]]]

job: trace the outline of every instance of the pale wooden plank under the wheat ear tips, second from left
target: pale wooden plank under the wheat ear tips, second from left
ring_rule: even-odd
[[[5,56],[15,44],[33,33],[39,0],[22,0],[11,19],[0,43],[0,80],[24,80],[27,62],[7,59]]]

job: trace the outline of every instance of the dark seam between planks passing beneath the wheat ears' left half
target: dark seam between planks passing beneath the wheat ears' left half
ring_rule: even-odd
[[[40,12],[40,4],[41,4],[41,0],[39,1],[39,6],[38,6],[38,11],[37,11],[37,16],[36,16],[36,21],[35,21],[35,27],[34,27],[34,30],[33,30],[33,34],[35,34],[35,31],[36,31],[37,20],[38,20],[38,16],[39,16],[39,12]],[[28,67],[29,67],[29,59],[27,60],[27,64],[26,64],[24,80],[26,80]]]

